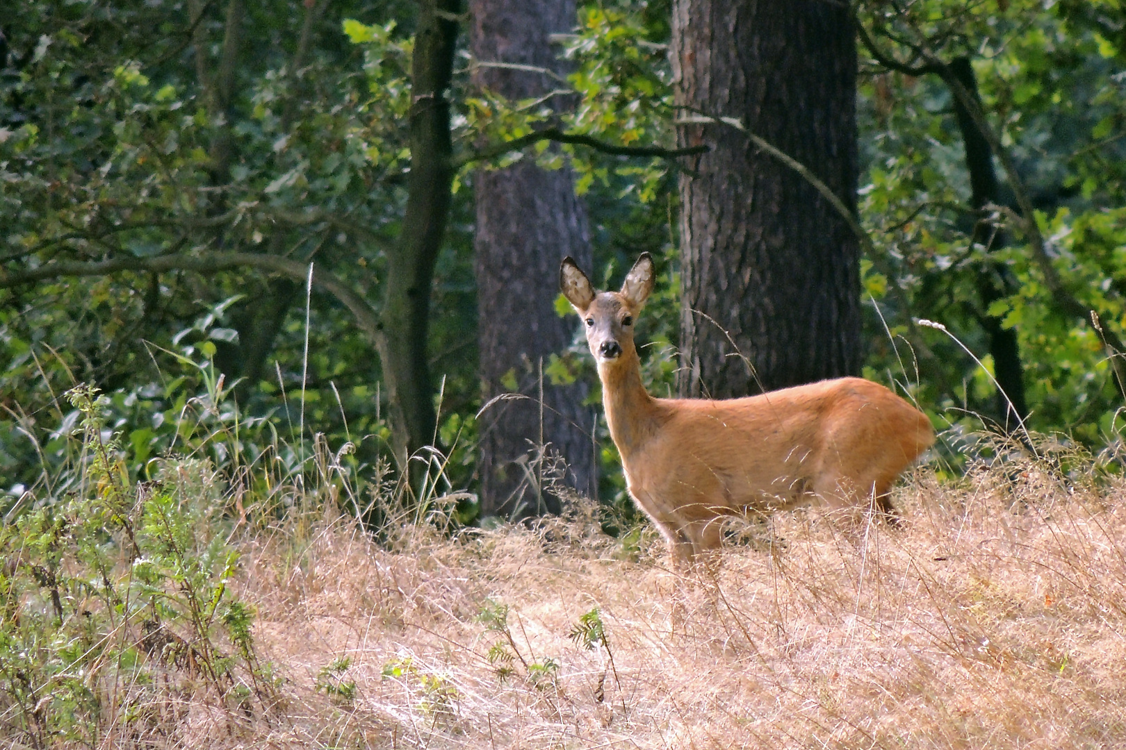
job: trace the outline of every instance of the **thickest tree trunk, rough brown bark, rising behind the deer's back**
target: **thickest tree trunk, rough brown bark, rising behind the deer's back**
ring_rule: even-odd
[[[674,0],[672,53],[685,111],[741,119],[855,211],[846,4]],[[680,392],[726,398],[858,373],[859,245],[846,222],[731,126],[681,126],[678,141],[714,146],[680,178]]]

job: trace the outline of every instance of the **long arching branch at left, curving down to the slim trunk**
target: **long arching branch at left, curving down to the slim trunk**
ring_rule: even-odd
[[[309,264],[300,261],[279,257],[277,255],[260,255],[256,253],[204,253],[199,255],[158,255],[155,257],[111,257],[106,261],[77,262],[66,261],[48,263],[28,271],[0,271],[0,289],[9,289],[26,283],[57,279],[60,277],[109,275],[122,271],[143,271],[163,273],[167,271],[195,271],[214,273],[238,268],[257,268],[270,273],[279,273],[295,281],[305,281],[309,277]],[[313,275],[313,286],[336,297],[356,318],[356,325],[377,347],[383,342],[383,325],[378,313],[358,293],[352,291],[340,279],[318,269]]]

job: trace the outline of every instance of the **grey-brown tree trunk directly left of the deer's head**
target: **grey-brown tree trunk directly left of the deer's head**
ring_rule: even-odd
[[[471,0],[470,9],[479,62],[561,70],[548,35],[574,26],[573,0]],[[513,100],[554,88],[542,73],[488,65],[477,69],[475,80]],[[515,378],[516,392],[528,397],[499,400],[481,417],[481,512],[557,513],[558,498],[542,490],[540,468],[527,460],[549,444],[566,461],[568,484],[593,494],[592,417],[582,406],[587,389],[552,386],[540,377],[540,363],[573,334],[573,322],[560,318],[553,301],[564,256],[590,266],[586,210],[568,170],[545,171],[530,161],[479,172],[475,195],[482,395],[488,401],[509,392],[503,381],[511,386]]]

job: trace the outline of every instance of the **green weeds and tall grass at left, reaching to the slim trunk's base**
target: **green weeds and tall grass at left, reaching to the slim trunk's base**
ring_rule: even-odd
[[[461,495],[440,454],[419,459],[421,487],[379,463],[361,489],[350,443],[292,445],[239,414],[209,362],[172,354],[198,392],[167,394],[159,433],[115,431],[120,404],[87,386],[62,397],[57,430],[20,422],[43,467],[0,528],[0,738],[12,747],[204,747],[272,731],[288,698],[238,594],[243,548],[280,535],[300,566],[325,518],[452,523]]]

